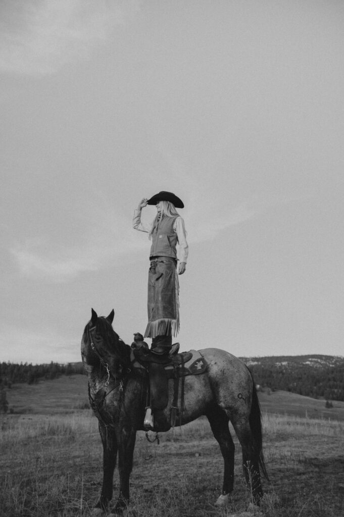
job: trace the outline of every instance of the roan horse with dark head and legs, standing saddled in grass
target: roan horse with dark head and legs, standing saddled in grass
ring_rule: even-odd
[[[81,355],[88,376],[89,401],[98,418],[103,446],[103,483],[96,508],[109,509],[118,452],[119,495],[114,510],[121,512],[129,502],[136,432],[144,430],[148,379],[144,369],[133,368],[132,349],[113,330],[113,317],[113,310],[107,317],[98,317],[92,309],[91,321],[82,337]],[[185,377],[184,410],[176,424],[184,425],[201,415],[208,418],[225,463],[222,494],[216,504],[225,505],[234,478],[234,444],[228,427],[231,421],[242,446],[246,484],[259,505],[263,495],[260,468],[266,478],[267,474],[255,383],[244,362],[233,355],[217,348],[199,352],[206,360],[206,372]],[[169,402],[160,412],[159,432],[171,428],[172,379],[168,389]]]

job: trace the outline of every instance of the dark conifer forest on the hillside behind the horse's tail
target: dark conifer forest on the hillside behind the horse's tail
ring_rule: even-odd
[[[344,401],[344,360],[321,366],[295,361],[287,364],[263,361],[249,364],[249,369],[256,384],[262,388],[291,391],[315,399],[323,397]]]

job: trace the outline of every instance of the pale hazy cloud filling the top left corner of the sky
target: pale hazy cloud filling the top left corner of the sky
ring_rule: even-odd
[[[0,6],[0,70],[51,74],[87,59],[141,0],[7,0]]]

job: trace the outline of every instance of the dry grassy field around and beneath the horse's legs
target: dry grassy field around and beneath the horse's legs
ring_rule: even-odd
[[[86,393],[86,378],[78,375],[9,390],[14,413],[0,415],[2,517],[92,515],[102,458],[97,419],[91,410],[81,409]],[[270,475],[270,482],[263,481],[262,514],[344,515],[344,404],[328,409],[329,420],[322,414],[324,401],[285,392],[260,393],[260,400]],[[251,515],[236,439],[235,444],[235,490],[231,504],[219,509],[214,503],[223,461],[205,419],[161,435],[160,445],[138,433],[131,503],[124,516]],[[114,485],[116,496],[117,472]]]

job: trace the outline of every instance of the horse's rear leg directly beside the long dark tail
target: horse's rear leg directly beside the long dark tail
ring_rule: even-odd
[[[256,439],[252,434],[249,421],[233,422],[235,433],[243,451],[243,471],[248,489],[251,491],[253,503],[259,506],[263,497],[260,479],[260,452]]]

